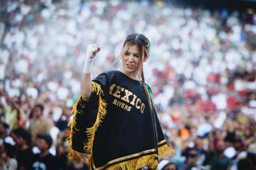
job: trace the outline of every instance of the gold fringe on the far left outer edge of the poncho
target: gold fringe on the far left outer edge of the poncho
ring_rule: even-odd
[[[68,159],[70,160],[76,160],[78,161],[80,158],[78,157],[78,154],[80,154],[80,156],[82,156],[82,158],[84,160],[86,160],[88,158],[88,156],[84,153],[80,153],[80,152],[76,152],[75,150],[72,149],[72,137],[73,137],[73,133],[74,133],[74,130],[75,131],[78,131],[80,129],[77,129],[76,128],[76,114],[79,113],[79,114],[82,114],[82,111],[81,110],[77,110],[77,105],[80,104],[81,107],[85,107],[85,104],[82,104],[82,101],[89,101],[88,99],[84,99],[82,98],[82,95],[80,95],[79,99],[76,101],[76,103],[74,104],[73,106],[73,109],[71,111],[71,113],[74,113],[74,117],[73,119],[68,123],[68,127],[70,127],[70,135],[68,136],[67,138],[67,142],[69,144],[69,152],[68,152]]]

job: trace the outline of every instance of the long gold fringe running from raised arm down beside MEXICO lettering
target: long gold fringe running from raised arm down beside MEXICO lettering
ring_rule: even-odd
[[[102,100],[101,94],[103,95],[103,91],[99,84],[92,82],[92,93],[97,92],[96,94],[99,96],[99,106],[98,106],[98,113],[97,118],[94,123],[94,125],[90,128],[86,129],[86,134],[88,136],[88,142],[84,144],[84,150],[86,154],[88,155],[88,162],[89,162],[89,168],[92,169],[92,146],[93,146],[93,140],[95,136],[95,132],[97,128],[100,126],[100,123],[102,123],[102,119],[104,119],[104,116],[106,115],[106,106],[107,103]]]

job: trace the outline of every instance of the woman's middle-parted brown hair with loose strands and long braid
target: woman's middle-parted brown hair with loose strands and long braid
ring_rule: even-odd
[[[143,56],[144,57],[149,57],[149,49],[150,49],[150,42],[148,40],[148,38],[146,38],[143,34],[138,34],[138,33],[134,33],[134,34],[129,34],[126,37],[126,40],[124,41],[124,45],[122,48],[122,51],[119,55],[119,57],[116,59],[116,61],[120,61],[120,59],[122,58],[123,55],[125,55],[126,51],[128,51],[128,49],[130,47],[132,47],[133,45],[136,45],[137,49],[138,49],[138,54],[139,54],[139,76],[142,79],[142,84],[144,87],[144,90],[146,92],[147,98],[148,98],[148,103],[150,105],[150,110],[153,111],[153,107],[152,107],[152,101],[150,98],[150,94],[148,92],[148,89],[145,85],[145,79],[144,79],[144,73],[143,73]]]

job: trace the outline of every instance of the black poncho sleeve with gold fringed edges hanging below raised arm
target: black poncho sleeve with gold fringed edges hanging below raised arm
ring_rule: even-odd
[[[68,124],[70,128],[70,136],[67,139],[68,158],[78,160],[82,156],[85,162],[90,164],[94,135],[106,115],[106,102],[101,85],[92,81],[90,99],[84,99],[80,95],[72,113],[74,113],[73,119]]]

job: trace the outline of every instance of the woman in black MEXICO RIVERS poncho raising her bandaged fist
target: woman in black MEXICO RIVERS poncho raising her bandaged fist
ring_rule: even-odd
[[[90,169],[137,170],[156,169],[160,156],[174,153],[166,144],[144,80],[143,62],[149,58],[149,48],[144,35],[128,35],[118,58],[122,68],[91,81],[92,61],[100,47],[88,46],[81,96],[69,123],[69,158],[80,153]]]

